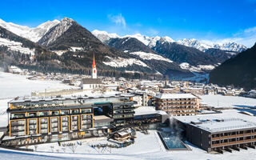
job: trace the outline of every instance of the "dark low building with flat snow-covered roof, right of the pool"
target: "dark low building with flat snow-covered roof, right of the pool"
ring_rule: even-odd
[[[175,117],[175,121],[186,130],[188,142],[207,152],[254,148],[256,145],[256,123],[242,118]]]

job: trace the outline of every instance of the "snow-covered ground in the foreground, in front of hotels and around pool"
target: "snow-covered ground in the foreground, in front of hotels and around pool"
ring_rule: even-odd
[[[187,160],[187,159],[218,159],[218,160],[253,160],[256,157],[256,150],[248,149],[241,150],[240,152],[234,151],[233,153],[225,152],[224,154],[208,154],[206,151],[199,149],[196,146],[191,145],[186,142],[190,147],[189,151],[167,151],[163,146],[160,138],[156,131],[150,131],[150,134],[145,135],[137,132],[137,137],[135,139],[134,145],[127,146],[122,149],[112,149],[110,151],[104,151],[98,153],[98,150],[91,148],[92,144],[106,144],[110,143],[107,141],[98,142],[82,142],[82,146],[78,146],[75,153],[71,151],[69,147],[58,146],[57,143],[42,144],[38,145],[38,151],[34,152],[23,152],[23,151],[13,151],[0,149],[1,159],[122,159],[122,160]],[[54,146],[54,152],[51,150],[51,146]],[[34,149],[34,146],[29,148]],[[63,148],[66,148],[66,153],[64,153]]]

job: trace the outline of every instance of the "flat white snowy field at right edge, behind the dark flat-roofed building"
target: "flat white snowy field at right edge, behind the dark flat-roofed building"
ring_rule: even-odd
[[[223,95],[202,95],[202,103],[214,107],[254,107],[256,106],[255,98],[244,98],[238,96]]]

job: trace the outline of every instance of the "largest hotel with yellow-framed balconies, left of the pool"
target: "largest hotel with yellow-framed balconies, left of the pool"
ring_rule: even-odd
[[[24,146],[107,134],[111,125],[134,119],[132,97],[15,98],[8,102],[9,126],[2,142]]]

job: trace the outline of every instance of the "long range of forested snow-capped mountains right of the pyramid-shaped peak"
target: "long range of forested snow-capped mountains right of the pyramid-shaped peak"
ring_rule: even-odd
[[[106,31],[98,30],[93,31],[92,34],[106,45],[130,54],[136,53],[134,55],[139,58],[143,57],[143,60],[145,60],[144,57],[155,59],[161,56],[161,59],[166,58],[170,59],[171,62],[183,64],[180,66],[182,69],[195,72],[208,72],[214,69],[215,66],[233,56],[229,50],[232,50],[232,54],[237,54],[233,48],[226,47],[226,50],[222,50],[224,46],[215,46],[216,48],[214,48],[214,46],[199,42],[196,39],[182,39],[175,42],[168,36],[148,37],[142,34],[120,37],[118,34],[108,34]],[[104,39],[100,35],[104,35]]]

